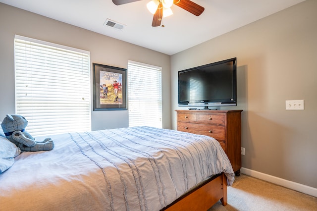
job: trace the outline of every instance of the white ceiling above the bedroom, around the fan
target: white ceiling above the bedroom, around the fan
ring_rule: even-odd
[[[0,0],[109,37],[172,55],[304,0],[192,0],[205,7],[200,16],[173,5],[165,27],[152,27],[150,0],[115,5],[112,0]],[[124,26],[104,26],[106,19]]]

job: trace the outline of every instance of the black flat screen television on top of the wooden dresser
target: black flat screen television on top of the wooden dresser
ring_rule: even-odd
[[[178,106],[237,106],[237,58],[178,71]]]

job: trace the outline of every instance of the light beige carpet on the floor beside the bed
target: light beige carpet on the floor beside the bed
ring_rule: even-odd
[[[317,211],[317,198],[245,174],[228,187],[228,204],[208,211]]]

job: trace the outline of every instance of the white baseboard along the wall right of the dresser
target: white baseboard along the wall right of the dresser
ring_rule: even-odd
[[[286,187],[286,188],[289,188],[289,189],[292,189],[295,191],[299,191],[299,192],[317,197],[317,188],[313,188],[313,187],[310,187],[307,185],[302,185],[300,183],[292,182],[292,181],[289,181],[286,179],[271,176],[271,175],[264,174],[264,173],[261,173],[259,171],[251,170],[251,169],[244,168],[244,167],[242,167],[240,170],[241,170],[241,173],[243,173],[243,174],[246,174],[246,175],[258,178],[258,179],[262,179],[262,180],[267,181],[267,182],[271,182],[271,183],[274,183],[274,184],[277,184],[277,185],[280,185],[280,186],[283,186],[283,187]]]

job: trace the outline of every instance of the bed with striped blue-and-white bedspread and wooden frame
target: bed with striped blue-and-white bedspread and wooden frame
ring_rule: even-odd
[[[208,136],[139,126],[51,138],[52,151],[23,152],[0,174],[0,210],[207,210],[234,181]]]

